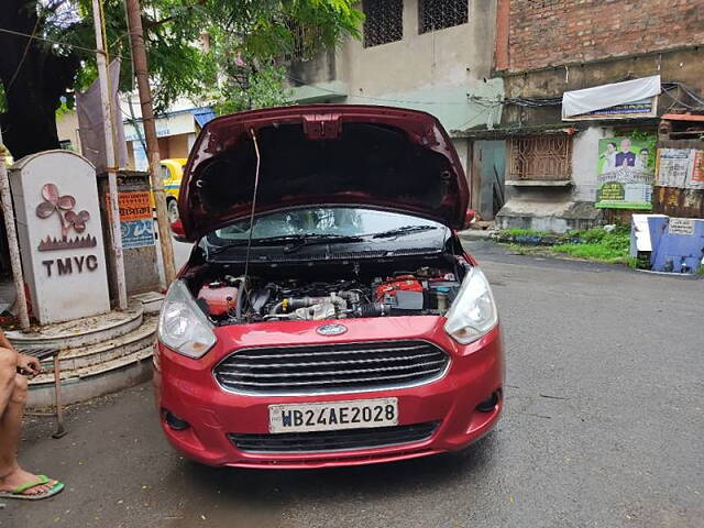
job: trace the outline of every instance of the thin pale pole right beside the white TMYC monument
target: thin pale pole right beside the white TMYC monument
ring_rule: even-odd
[[[114,253],[114,270],[118,280],[118,309],[127,310],[128,292],[124,280],[124,258],[122,254],[122,229],[120,227],[120,202],[118,198],[118,177],[114,157],[114,142],[112,139],[111,92],[108,79],[108,52],[103,34],[101,0],[92,0],[92,20],[96,28],[96,62],[98,63],[98,82],[100,85],[100,102],[102,107],[102,127],[106,142],[106,165],[108,172],[108,189],[110,193],[110,229],[112,233],[112,250]]]

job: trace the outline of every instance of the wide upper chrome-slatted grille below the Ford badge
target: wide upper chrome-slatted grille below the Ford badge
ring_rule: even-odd
[[[215,369],[226,389],[248,394],[311,394],[427,383],[449,362],[426,341],[386,341],[245,349]]]

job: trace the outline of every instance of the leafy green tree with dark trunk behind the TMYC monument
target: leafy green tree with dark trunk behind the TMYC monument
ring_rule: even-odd
[[[96,78],[91,0],[2,1],[0,127],[19,158],[58,147],[56,110],[73,108],[75,90]],[[121,89],[128,91],[133,75],[123,0],[103,1],[107,40],[111,54],[123,57]],[[275,94],[283,79],[278,59],[297,45],[300,28],[315,35],[310,45],[331,46],[358,36],[363,16],[352,0],[143,0],[142,10],[157,113],[179,96],[212,95],[213,86],[223,87],[223,108],[241,108],[227,105],[237,96],[235,74],[244,73],[245,87]],[[200,45],[204,34],[209,47]],[[270,101],[277,102],[263,97],[257,105]]]

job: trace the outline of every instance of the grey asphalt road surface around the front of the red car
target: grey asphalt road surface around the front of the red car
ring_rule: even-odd
[[[240,471],[182,460],[148,385],[76,407],[22,460],[63,495],[9,504],[13,528],[198,526],[695,528],[704,518],[704,280],[475,254],[508,351],[499,427],[463,453],[326,471]]]

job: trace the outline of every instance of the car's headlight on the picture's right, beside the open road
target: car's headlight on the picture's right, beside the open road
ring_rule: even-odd
[[[498,314],[488,280],[479,267],[473,267],[446,315],[444,331],[458,343],[470,344],[488,333],[498,323]]]

